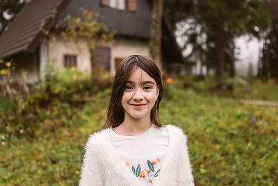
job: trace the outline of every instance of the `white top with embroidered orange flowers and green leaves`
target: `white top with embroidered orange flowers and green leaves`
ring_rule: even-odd
[[[169,134],[167,127],[152,125],[134,136],[117,134],[111,129],[113,147],[126,167],[143,185],[153,185],[165,160]]]

